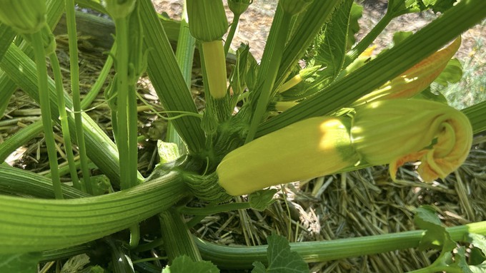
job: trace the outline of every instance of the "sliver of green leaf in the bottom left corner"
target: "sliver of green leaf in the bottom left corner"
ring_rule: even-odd
[[[41,260],[41,254],[1,254],[0,272],[34,273],[37,272],[37,264]]]

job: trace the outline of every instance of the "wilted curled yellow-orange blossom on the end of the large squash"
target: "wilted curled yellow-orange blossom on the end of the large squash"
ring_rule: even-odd
[[[430,182],[464,163],[472,143],[466,115],[442,103],[417,99],[377,101],[356,108],[352,143],[362,160],[397,168],[420,160],[418,172]]]

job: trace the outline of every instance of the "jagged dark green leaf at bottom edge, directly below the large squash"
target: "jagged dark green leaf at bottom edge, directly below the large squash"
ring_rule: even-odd
[[[270,235],[267,237],[268,273],[308,273],[309,266],[304,259],[290,250],[289,242],[282,236]],[[262,266],[257,266],[257,271],[262,272]]]

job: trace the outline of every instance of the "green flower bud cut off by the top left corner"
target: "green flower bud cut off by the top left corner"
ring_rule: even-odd
[[[20,34],[34,34],[46,23],[45,0],[0,0],[0,21]]]

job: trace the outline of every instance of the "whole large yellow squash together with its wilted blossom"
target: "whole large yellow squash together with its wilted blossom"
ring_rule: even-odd
[[[264,135],[227,154],[217,167],[229,195],[342,172],[364,160],[390,163],[395,179],[403,163],[420,160],[425,181],[444,178],[464,163],[472,127],[459,110],[418,99],[377,101],[353,118],[316,117]]]

